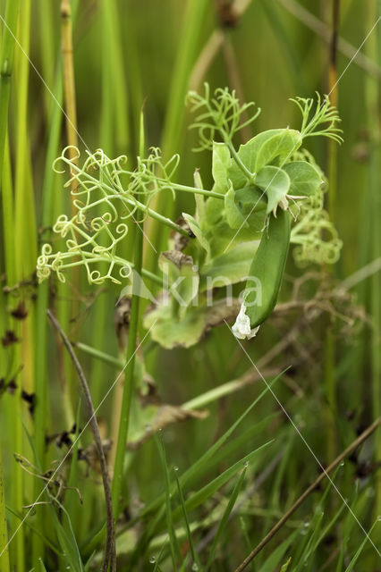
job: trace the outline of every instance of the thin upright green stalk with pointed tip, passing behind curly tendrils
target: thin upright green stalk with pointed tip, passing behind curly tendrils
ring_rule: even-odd
[[[140,128],[140,156],[144,156],[144,129]],[[143,224],[136,224],[135,231],[135,258],[134,267],[138,274],[141,273],[141,265],[143,260]],[[127,342],[127,354],[124,374],[123,397],[121,405],[121,416],[119,421],[118,441],[116,444],[115,462],[114,462],[114,478],[113,478],[113,510],[114,517],[117,519],[121,505],[120,494],[122,490],[123,464],[126,451],[126,443],[128,439],[128,429],[130,423],[131,402],[134,395],[134,366],[135,354],[138,343],[139,331],[139,312],[140,312],[140,296],[139,292],[135,292],[131,297],[131,319],[129,327],[129,335]]]

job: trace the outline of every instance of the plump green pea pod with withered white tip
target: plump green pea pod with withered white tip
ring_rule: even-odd
[[[290,232],[290,214],[284,210],[279,210],[276,218],[270,214],[268,229],[263,231],[250,266],[241,311],[233,325],[237,338],[253,337],[273,311],[284,275]]]

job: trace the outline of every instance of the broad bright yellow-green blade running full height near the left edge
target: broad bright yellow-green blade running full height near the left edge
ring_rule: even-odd
[[[13,3],[11,3],[13,4]],[[16,4],[16,3],[14,3]],[[15,8],[13,7],[13,10]],[[20,18],[20,43],[23,50],[28,54],[30,46],[30,0],[22,4]],[[11,41],[11,40],[9,40]],[[29,62],[21,51],[17,52],[15,65],[17,78],[17,103],[15,122],[15,188],[14,188],[14,218],[13,218],[13,278],[15,282],[29,279],[33,272],[37,254],[36,226],[34,215],[34,198],[30,172],[30,153],[28,138],[28,87],[29,87]],[[7,91],[9,86],[5,89]],[[4,133],[3,133],[4,137]],[[7,190],[9,192],[9,189]],[[10,276],[8,275],[8,280]],[[13,396],[14,415],[14,439],[13,450],[23,454],[23,428],[21,425],[22,407],[21,390],[33,391],[33,335],[34,310],[29,306],[27,320],[17,321],[13,331],[21,340],[14,350],[13,366],[23,365],[22,374],[17,376],[17,389]],[[27,480],[21,467],[15,467],[12,488],[12,506],[18,511],[22,510],[24,495],[26,494]],[[25,562],[25,538],[21,528],[14,539],[15,568],[23,570]]]

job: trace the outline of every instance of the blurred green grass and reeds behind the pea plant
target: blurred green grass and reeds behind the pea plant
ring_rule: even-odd
[[[189,88],[201,89],[207,80],[211,88],[228,86],[241,101],[255,101],[262,108],[255,132],[298,128],[289,97],[329,93],[342,117],[344,143],[314,141],[310,150],[329,181],[326,208],[343,250],[329,269],[300,269],[290,257],[283,306],[258,339],[245,343],[245,351],[224,325],[188,350],[165,351],[146,342],[146,367],[163,402],[180,405],[199,396],[208,416],[165,428],[164,472],[155,440],[128,453],[118,569],[170,570],[173,553],[179,569],[187,569],[193,548],[199,554],[195,566],[207,569],[212,547],[211,569],[236,569],[321,473],[318,460],[326,466],[365,427],[379,422],[380,14],[377,0],[0,2],[1,572],[81,570],[86,563],[99,568],[106,512],[89,430],[80,438],[82,460],[74,448],[49,485],[56,501],[31,511],[25,507],[38,497],[47,470],[55,469],[87,419],[76,374],[46,309],[54,307],[63,330],[82,344],[77,353],[97,407],[122,359],[114,332],[120,288],[89,287],[75,273],[65,285],[52,280],[38,286],[35,266],[56,216],[70,210],[65,176],[52,171],[53,160],[74,144],[81,153],[102,147],[108,156],[126,154],[133,163],[142,105],[147,146],[162,147],[165,156],[180,153],[179,181],[190,184],[198,167],[209,189],[210,156],[191,152],[194,133],[187,129],[184,105]],[[253,134],[243,132],[243,140]],[[175,203],[168,195],[162,212],[174,220],[184,210],[191,213],[193,198],[185,195]],[[146,230],[157,246],[165,245],[166,231],[149,225]],[[135,240],[132,232],[123,247],[126,258]],[[148,243],[144,248],[145,264],[155,271]],[[250,362],[267,379],[289,368],[275,383],[277,400],[267,391],[234,438],[205,459],[266,389]],[[222,397],[217,387],[225,388]],[[117,415],[118,398],[110,394],[97,412],[105,439],[114,434]],[[240,465],[231,480],[215,483],[217,475],[269,440],[274,442],[250,459],[244,481]],[[331,474],[334,484],[323,481],[307,497],[251,569],[380,570],[380,451],[378,431]],[[215,484],[201,495],[202,502],[187,505],[192,548],[181,513],[167,506],[165,520],[159,495],[166,477],[174,481],[171,467],[182,474],[200,458],[199,474],[184,485],[185,498]],[[63,485],[78,489],[82,503],[75,490],[63,492]],[[236,497],[233,518],[219,530],[215,546],[215,525]],[[40,500],[49,501],[46,495]],[[172,502],[173,509],[182,505],[175,494]],[[9,549],[3,550],[7,539]]]

